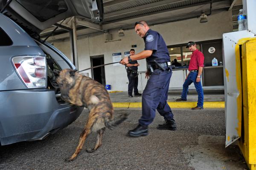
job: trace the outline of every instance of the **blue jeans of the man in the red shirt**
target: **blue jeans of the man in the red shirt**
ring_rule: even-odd
[[[197,75],[198,75],[198,72],[190,72],[189,73],[186,81],[183,84],[183,90],[182,90],[181,98],[184,99],[184,100],[186,99],[188,89],[189,89],[189,85],[194,83],[195,84],[195,89],[198,93],[197,106],[203,107],[204,106],[204,92],[203,92],[201,82],[196,82]]]

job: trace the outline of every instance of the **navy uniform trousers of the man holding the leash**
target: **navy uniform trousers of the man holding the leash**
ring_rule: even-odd
[[[168,89],[172,72],[155,69],[148,79],[142,94],[141,125],[149,125],[154,120],[156,109],[165,120],[172,120],[172,110],[167,104]]]

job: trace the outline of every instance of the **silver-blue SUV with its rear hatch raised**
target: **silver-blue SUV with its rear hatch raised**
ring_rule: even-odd
[[[79,117],[83,107],[62,101],[55,81],[56,70],[76,68],[39,34],[67,17],[99,21],[95,6],[102,0],[0,0],[1,145],[43,139]]]

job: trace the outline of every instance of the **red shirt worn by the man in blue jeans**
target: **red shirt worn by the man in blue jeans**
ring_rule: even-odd
[[[198,49],[192,52],[190,62],[189,62],[189,71],[198,70],[198,68],[204,67],[204,55]]]

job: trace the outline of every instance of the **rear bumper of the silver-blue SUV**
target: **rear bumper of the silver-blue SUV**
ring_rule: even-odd
[[[71,124],[84,107],[58,104],[49,89],[0,92],[0,142],[43,139]]]

